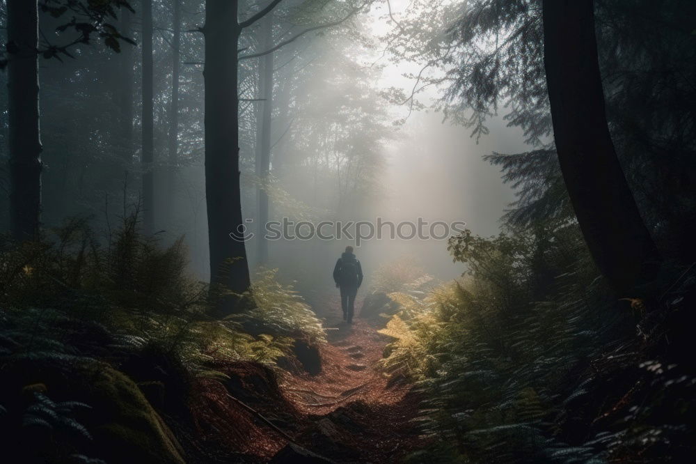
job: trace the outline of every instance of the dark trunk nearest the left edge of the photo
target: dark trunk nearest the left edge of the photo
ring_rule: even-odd
[[[7,1],[10,229],[15,240],[37,237],[41,212],[38,5]]]

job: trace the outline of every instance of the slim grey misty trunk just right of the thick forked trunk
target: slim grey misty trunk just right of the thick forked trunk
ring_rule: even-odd
[[[260,49],[266,50],[273,43],[273,16],[267,15],[261,22],[260,31]],[[269,201],[266,186],[269,182],[269,173],[271,171],[271,116],[273,114],[273,53],[266,54],[261,57],[259,63],[259,94],[262,101],[260,102],[260,118],[257,127],[258,143],[256,153],[256,175],[261,181],[258,185],[257,207],[258,207],[258,233],[256,236],[257,244],[257,261],[264,264],[268,261],[268,241],[265,238],[266,223],[268,222]]]

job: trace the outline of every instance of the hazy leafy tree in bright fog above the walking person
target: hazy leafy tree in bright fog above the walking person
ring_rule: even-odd
[[[371,84],[381,70],[333,52],[353,47],[354,35],[327,40],[332,53],[314,56],[295,90],[283,173],[302,179],[289,186],[297,198],[317,210],[354,217],[380,193],[382,147],[395,127],[387,100]]]

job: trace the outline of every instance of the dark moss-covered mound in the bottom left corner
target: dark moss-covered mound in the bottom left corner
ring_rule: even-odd
[[[184,463],[176,438],[138,385],[109,364],[22,359],[0,371],[0,403],[18,404],[26,389],[37,388],[54,401],[90,406],[75,419],[93,440],[69,438],[66,449],[109,464]]]

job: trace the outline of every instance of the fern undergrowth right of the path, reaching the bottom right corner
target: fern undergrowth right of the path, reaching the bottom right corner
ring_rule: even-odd
[[[390,294],[400,311],[380,331],[394,340],[383,367],[425,396],[418,421],[430,445],[412,462],[693,456],[693,405],[681,398],[696,377],[656,360],[660,330],[636,337],[644,302],[605,288],[574,225],[466,231],[450,251],[468,265],[464,277],[425,295]]]

